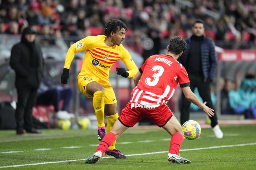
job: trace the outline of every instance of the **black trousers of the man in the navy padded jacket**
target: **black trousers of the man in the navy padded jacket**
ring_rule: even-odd
[[[210,98],[210,79],[205,80],[203,75],[200,75],[200,74],[188,73],[188,75],[190,80],[191,91],[194,91],[195,87],[197,87],[201,98],[203,99],[204,102],[206,102],[206,106],[214,110],[213,102]],[[185,98],[182,92],[181,108],[180,108],[180,124],[181,125],[184,122],[189,120],[190,104],[191,102],[189,102],[189,100]],[[217,115],[215,114],[214,116],[209,118],[211,120],[211,126],[215,127],[215,125],[218,124]]]

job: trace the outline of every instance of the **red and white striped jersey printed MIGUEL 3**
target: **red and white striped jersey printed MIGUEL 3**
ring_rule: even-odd
[[[130,102],[158,107],[167,103],[178,85],[189,86],[185,68],[170,55],[152,55],[139,69],[142,76],[132,91]]]

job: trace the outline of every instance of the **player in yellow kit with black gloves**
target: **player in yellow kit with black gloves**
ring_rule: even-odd
[[[71,45],[67,51],[65,65],[61,75],[61,83],[66,84],[69,77],[69,67],[75,53],[86,51],[82,68],[78,74],[78,88],[87,96],[93,98],[93,108],[98,120],[98,139],[101,141],[106,132],[109,132],[118,118],[117,100],[109,82],[109,70],[118,60],[122,60],[129,71],[117,68],[117,74],[122,77],[134,77],[138,72],[127,49],[122,45],[127,31],[126,25],[118,19],[111,19],[106,23],[104,35],[87,36]],[[107,126],[104,124],[104,113]],[[108,146],[106,155],[126,159],[115,148],[115,142]]]

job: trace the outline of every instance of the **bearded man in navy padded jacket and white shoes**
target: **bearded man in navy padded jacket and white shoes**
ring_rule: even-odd
[[[194,91],[197,87],[199,94],[206,106],[214,108],[210,98],[210,83],[213,81],[217,68],[217,57],[213,40],[204,36],[204,22],[194,21],[193,35],[186,39],[187,51],[179,58],[179,62],[186,68],[190,80],[190,88]],[[182,93],[180,108],[180,123],[189,120],[189,102]],[[211,126],[216,138],[222,138],[223,133],[219,128],[217,115],[210,117]]]

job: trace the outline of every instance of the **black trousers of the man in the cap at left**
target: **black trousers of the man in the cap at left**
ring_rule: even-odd
[[[35,106],[37,89],[17,89],[18,102],[15,110],[16,130],[32,130],[32,109]]]

